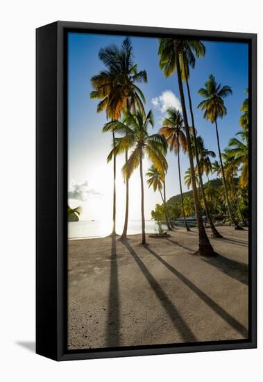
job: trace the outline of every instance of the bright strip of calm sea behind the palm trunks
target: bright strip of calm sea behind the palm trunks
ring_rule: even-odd
[[[166,230],[167,226],[163,224],[163,229]],[[116,231],[121,235],[123,226],[117,226]],[[110,223],[99,221],[80,221],[68,223],[68,236],[69,239],[76,238],[103,238],[110,235],[112,227]],[[155,233],[158,232],[158,225],[153,220],[145,221],[145,232]],[[140,220],[134,220],[128,223],[128,235],[135,235],[142,233],[142,223]]]

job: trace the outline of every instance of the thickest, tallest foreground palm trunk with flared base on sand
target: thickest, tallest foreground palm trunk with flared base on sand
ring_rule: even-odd
[[[176,48],[176,47],[175,47]],[[186,107],[185,107],[185,96],[183,92],[183,82],[182,82],[182,75],[180,70],[180,62],[179,62],[179,54],[176,50],[176,69],[177,69],[177,77],[178,77],[178,87],[180,92],[180,100],[182,104],[182,110],[183,110],[183,119],[185,123],[185,132],[187,136],[187,146],[189,151],[189,162],[190,162],[190,168],[191,168],[191,174],[192,174],[192,185],[193,185],[193,192],[194,192],[194,204],[196,208],[196,220],[198,224],[198,233],[199,233],[199,249],[197,251],[197,254],[200,254],[202,256],[214,256],[214,249],[212,245],[210,244],[209,239],[207,238],[207,234],[205,232],[205,227],[203,225],[203,220],[201,217],[201,210],[200,210],[200,204],[198,199],[198,192],[196,188],[196,179],[194,174],[194,160],[193,160],[193,154],[192,154],[192,147],[191,147],[191,140],[190,140],[190,133],[189,133],[189,125],[187,120],[187,113],[186,113]]]

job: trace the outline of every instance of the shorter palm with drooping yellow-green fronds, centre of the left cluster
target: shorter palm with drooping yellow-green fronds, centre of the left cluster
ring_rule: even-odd
[[[153,165],[158,171],[166,172],[167,160],[165,154],[167,153],[167,142],[160,134],[149,135],[149,126],[153,127],[153,113],[150,110],[144,117],[143,113],[139,110],[135,114],[127,111],[124,115],[124,121],[108,122],[103,127],[103,131],[116,131],[124,135],[122,138],[116,139],[116,145],[113,147],[110,155],[123,153],[126,150],[133,151],[127,163],[124,165],[122,171],[124,178],[130,178],[134,170],[139,167],[139,175],[141,179],[141,213],[142,213],[142,244],[146,243],[145,240],[145,219],[144,219],[144,178],[142,160],[144,156],[148,156]]]

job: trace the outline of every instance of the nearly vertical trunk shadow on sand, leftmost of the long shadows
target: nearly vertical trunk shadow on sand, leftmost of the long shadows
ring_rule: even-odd
[[[116,236],[112,235],[110,258],[110,289],[108,299],[108,320],[106,338],[108,347],[119,346],[119,281],[116,251]]]

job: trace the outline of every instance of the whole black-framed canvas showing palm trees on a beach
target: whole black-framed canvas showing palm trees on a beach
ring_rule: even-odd
[[[256,41],[37,28],[37,354],[256,347]]]

